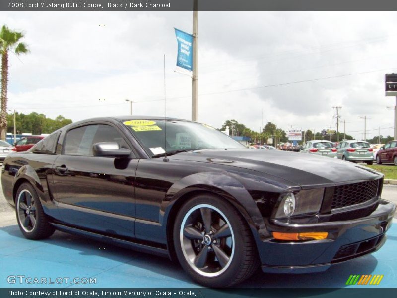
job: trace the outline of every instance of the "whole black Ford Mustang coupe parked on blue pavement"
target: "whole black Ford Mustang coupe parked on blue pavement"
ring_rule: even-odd
[[[1,176],[29,239],[55,229],[178,260],[198,283],[323,271],[379,249],[396,206],[383,175],[346,161],[252,150],[205,124],[106,117],[70,124]]]

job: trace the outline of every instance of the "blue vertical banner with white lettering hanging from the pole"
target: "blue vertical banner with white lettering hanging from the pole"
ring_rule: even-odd
[[[178,41],[177,66],[188,71],[193,70],[193,35],[175,29]]]

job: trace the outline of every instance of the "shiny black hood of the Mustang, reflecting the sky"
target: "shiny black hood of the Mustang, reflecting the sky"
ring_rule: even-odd
[[[382,177],[381,173],[352,162],[279,150],[206,149],[178,153],[169,158],[246,168],[300,186],[340,184]]]

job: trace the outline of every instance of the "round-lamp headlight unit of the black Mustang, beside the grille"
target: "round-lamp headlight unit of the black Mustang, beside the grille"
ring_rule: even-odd
[[[316,215],[323,202],[324,188],[305,189],[281,195],[275,218]]]

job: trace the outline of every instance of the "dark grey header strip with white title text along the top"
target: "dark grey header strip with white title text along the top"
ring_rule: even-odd
[[[202,11],[392,11],[396,0],[198,0]],[[3,11],[191,11],[193,0],[1,0]]]

